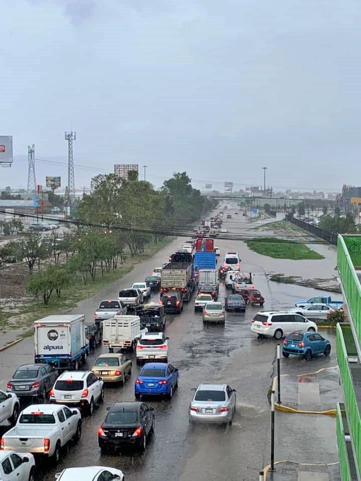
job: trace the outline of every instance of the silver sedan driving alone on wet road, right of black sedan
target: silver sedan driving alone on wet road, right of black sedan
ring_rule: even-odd
[[[236,410],[236,389],[227,384],[200,384],[189,407],[189,422],[232,424]]]

